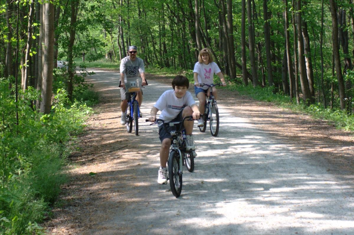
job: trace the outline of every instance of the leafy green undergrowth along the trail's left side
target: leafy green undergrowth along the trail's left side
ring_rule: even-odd
[[[67,181],[67,156],[91,113],[86,102],[97,103],[97,94],[82,82],[70,102],[60,72],[55,76],[50,114],[36,112],[38,92],[31,88],[16,104],[13,83],[9,89],[10,79],[0,78],[0,234],[45,234],[39,224],[50,217]]]

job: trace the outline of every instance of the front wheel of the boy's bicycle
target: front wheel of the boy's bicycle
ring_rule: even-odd
[[[179,164],[179,153],[171,151],[169,156],[169,179],[172,194],[178,198],[182,192],[182,174],[179,174],[181,165]]]

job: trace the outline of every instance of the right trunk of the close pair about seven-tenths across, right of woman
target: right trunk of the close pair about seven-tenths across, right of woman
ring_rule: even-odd
[[[253,26],[252,26],[251,0],[247,0],[247,19],[248,19],[248,35],[249,35],[248,41],[249,41],[249,50],[250,50],[252,81],[253,81],[253,87],[256,87],[258,85],[258,74],[257,74],[256,58],[255,58],[255,41],[254,41]]]

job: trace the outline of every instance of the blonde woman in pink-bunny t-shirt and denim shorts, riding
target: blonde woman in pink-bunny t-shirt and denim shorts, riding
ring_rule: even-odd
[[[199,52],[198,62],[194,65],[194,92],[199,100],[199,112],[204,113],[206,97],[210,95],[210,88],[208,86],[200,87],[200,84],[213,84],[214,74],[219,76],[223,86],[226,86],[224,75],[219,66],[213,62],[213,56],[209,48],[204,48]],[[217,100],[216,87],[213,87],[213,95]],[[204,126],[204,121],[199,119],[198,126]]]

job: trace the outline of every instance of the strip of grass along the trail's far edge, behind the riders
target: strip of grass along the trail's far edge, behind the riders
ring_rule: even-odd
[[[87,67],[96,67],[96,68],[114,68],[119,69],[119,62],[85,62]],[[193,70],[183,70],[183,69],[174,69],[174,68],[155,68],[155,67],[145,67],[147,73],[159,75],[159,76],[176,76],[177,74],[182,74],[186,76],[191,83],[193,80]],[[217,76],[214,77],[218,79]],[[296,100],[293,99],[290,101],[290,97],[274,92],[274,87],[265,87],[260,86],[253,88],[252,85],[244,86],[242,85],[241,80],[230,81],[230,79],[225,76],[225,79],[228,81],[229,85],[227,88],[232,91],[237,91],[240,95],[249,96],[255,100],[273,102],[279,107],[291,109],[294,112],[306,113],[314,118],[326,120],[329,123],[335,125],[337,128],[344,129],[346,131],[354,131],[354,115],[348,115],[346,111],[339,109],[330,109],[324,108],[323,104],[316,103],[306,106],[302,103],[297,104]]]

